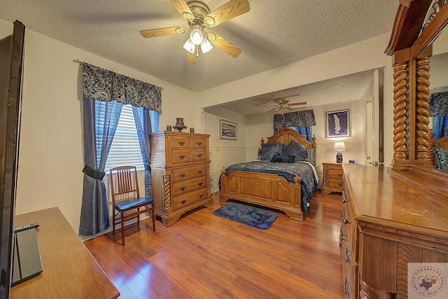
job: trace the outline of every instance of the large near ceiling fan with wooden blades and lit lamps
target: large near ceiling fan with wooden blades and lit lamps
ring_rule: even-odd
[[[203,54],[213,48],[220,48],[228,55],[236,58],[241,49],[214,32],[206,32],[206,27],[213,28],[243,13],[247,13],[251,7],[248,0],[230,0],[228,3],[210,12],[209,6],[202,1],[170,0],[182,17],[188,22],[188,28],[166,27],[158,29],[141,30],[141,36],[145,38],[165,36],[171,34],[183,34],[190,32],[190,36],[183,45],[188,51],[187,64],[195,64],[199,56],[199,48]]]

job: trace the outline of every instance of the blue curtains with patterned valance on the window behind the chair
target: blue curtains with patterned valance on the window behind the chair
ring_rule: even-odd
[[[83,202],[80,235],[95,235],[109,228],[109,209],[103,177],[123,104],[162,113],[162,88],[81,62],[83,77],[84,160]],[[97,109],[97,111],[95,111]],[[151,195],[148,132],[149,114],[143,113],[136,126],[145,165],[146,195]],[[134,114],[135,116],[135,114]],[[139,123],[139,125],[137,125]],[[96,130],[95,128],[98,128]],[[148,187],[149,186],[149,187]]]

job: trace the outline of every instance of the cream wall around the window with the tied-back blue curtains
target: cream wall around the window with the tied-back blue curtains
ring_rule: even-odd
[[[12,32],[13,25],[0,20],[0,36]],[[195,92],[25,29],[15,211],[23,214],[59,207],[78,232],[84,162],[82,90],[80,65],[73,62],[76,59],[164,88],[161,129],[165,124],[174,125],[176,117],[183,117],[188,127],[200,127],[200,113]]]

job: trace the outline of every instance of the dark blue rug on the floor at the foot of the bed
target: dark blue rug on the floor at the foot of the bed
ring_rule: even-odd
[[[248,207],[244,204],[235,204],[235,202],[230,202],[213,211],[213,214],[260,230],[267,230],[270,228],[272,223],[274,223],[275,219],[279,216],[272,211]]]

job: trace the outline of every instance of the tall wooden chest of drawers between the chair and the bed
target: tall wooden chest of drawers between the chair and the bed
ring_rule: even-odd
[[[213,204],[209,191],[209,135],[150,134],[155,214],[172,225],[196,207]]]

